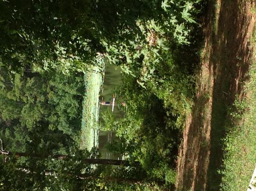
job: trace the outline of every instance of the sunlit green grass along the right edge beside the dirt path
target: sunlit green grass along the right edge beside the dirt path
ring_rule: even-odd
[[[253,13],[255,15],[255,13]],[[253,32],[253,46],[256,50],[256,30]],[[254,52],[254,57],[256,53]],[[222,174],[221,191],[247,190],[256,164],[256,59],[252,61],[250,80],[245,84],[247,96],[236,101],[236,111],[231,113],[234,121],[227,127],[230,132],[224,139],[225,154]]]

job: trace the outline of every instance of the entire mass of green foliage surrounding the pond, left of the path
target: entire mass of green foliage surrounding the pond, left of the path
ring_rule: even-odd
[[[171,189],[197,62],[185,49],[196,52],[200,9],[201,0],[1,1],[1,151],[26,156],[1,156],[0,190]],[[130,167],[79,162],[99,157],[78,148],[83,75],[103,58],[121,66],[127,104],[125,118],[109,115],[103,128],[116,131],[109,149]]]

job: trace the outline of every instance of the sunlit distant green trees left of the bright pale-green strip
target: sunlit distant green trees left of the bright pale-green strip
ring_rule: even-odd
[[[5,121],[19,121],[21,127],[33,131],[37,126],[62,130],[75,136],[80,129],[83,75],[44,75],[21,69],[11,73],[1,68],[0,111]]]

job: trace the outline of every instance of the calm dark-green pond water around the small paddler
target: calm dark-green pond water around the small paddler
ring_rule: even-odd
[[[103,84],[103,91],[100,94],[100,101],[113,101],[113,94],[115,88],[121,84],[121,69],[116,65],[105,65],[105,79]],[[119,95],[116,95],[116,101],[122,101]],[[115,102],[116,102],[115,101]],[[100,105],[99,108],[99,121],[102,121],[102,113],[108,109],[112,109],[112,106]],[[113,115],[115,119],[123,117],[122,112],[117,106],[114,107]],[[118,139],[113,131],[99,131],[99,152],[102,155],[102,159],[122,159],[121,155],[114,155],[106,150],[105,145],[113,142],[114,139]]]

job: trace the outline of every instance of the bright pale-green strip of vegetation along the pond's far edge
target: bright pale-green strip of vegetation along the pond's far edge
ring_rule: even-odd
[[[103,83],[102,72],[93,66],[84,75],[86,92],[83,100],[80,149],[91,150],[98,146],[99,92]]]

